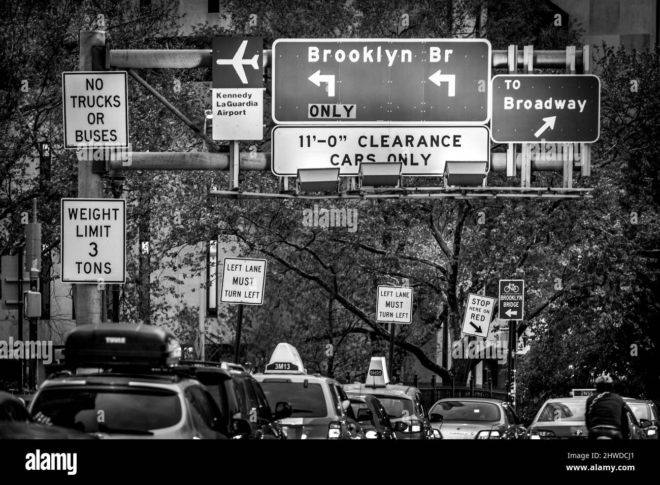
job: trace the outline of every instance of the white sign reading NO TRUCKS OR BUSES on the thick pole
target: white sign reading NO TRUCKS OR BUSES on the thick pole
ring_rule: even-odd
[[[127,75],[62,73],[65,148],[128,148]]]

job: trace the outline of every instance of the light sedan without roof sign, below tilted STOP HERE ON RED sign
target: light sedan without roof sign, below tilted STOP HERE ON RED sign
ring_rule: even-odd
[[[527,432],[510,404],[486,397],[440,399],[430,420],[443,439],[524,439]]]

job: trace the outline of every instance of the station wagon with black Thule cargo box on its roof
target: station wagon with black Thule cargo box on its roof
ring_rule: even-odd
[[[40,385],[30,414],[103,438],[226,439],[209,391],[176,368],[180,356],[178,340],[161,327],[81,325],[67,335],[63,369]]]

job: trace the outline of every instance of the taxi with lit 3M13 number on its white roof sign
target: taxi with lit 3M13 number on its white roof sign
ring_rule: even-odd
[[[296,348],[277,344],[263,373],[255,373],[288,439],[363,439],[339,382],[308,374]]]

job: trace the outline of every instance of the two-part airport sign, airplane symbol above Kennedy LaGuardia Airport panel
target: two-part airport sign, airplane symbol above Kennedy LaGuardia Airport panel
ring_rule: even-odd
[[[263,139],[263,38],[214,38],[211,71],[213,139]]]

